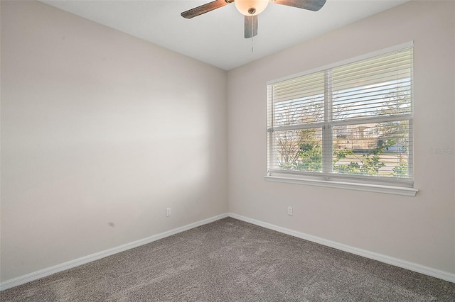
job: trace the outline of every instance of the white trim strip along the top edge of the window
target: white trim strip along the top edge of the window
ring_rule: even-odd
[[[294,79],[296,77],[301,77],[301,76],[304,76],[306,74],[313,74],[315,72],[321,72],[321,71],[326,70],[326,69],[331,69],[331,68],[335,68],[335,67],[338,67],[338,66],[347,65],[347,64],[350,64],[350,63],[353,63],[353,62],[358,62],[358,61],[361,61],[361,60],[370,59],[370,57],[377,57],[379,55],[385,55],[386,53],[394,52],[394,51],[397,51],[397,50],[403,50],[403,49],[408,48],[408,47],[414,47],[414,41],[409,41],[409,42],[402,43],[402,44],[399,44],[399,45],[387,47],[387,48],[384,48],[382,50],[369,52],[369,53],[366,53],[365,55],[358,55],[357,57],[352,57],[352,58],[347,59],[347,60],[334,62],[334,63],[328,64],[328,65],[324,65],[322,67],[316,67],[314,69],[306,70],[304,72],[299,72],[297,74],[291,74],[291,75],[289,75],[287,77],[281,77],[279,79],[273,79],[273,80],[267,81],[266,84],[267,85],[276,84],[278,82],[283,82],[283,81],[286,81],[288,79]]]

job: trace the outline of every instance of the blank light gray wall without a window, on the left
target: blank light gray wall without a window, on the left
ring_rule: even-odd
[[[1,1],[1,281],[226,213],[226,79]]]

